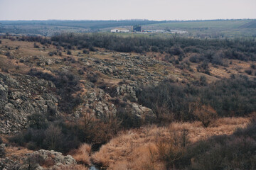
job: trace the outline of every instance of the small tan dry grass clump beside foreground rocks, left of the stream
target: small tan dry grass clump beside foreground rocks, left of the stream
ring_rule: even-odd
[[[73,153],[71,152],[73,158],[81,164],[90,165],[90,153],[92,147],[88,144],[81,145],[78,149],[75,149]]]

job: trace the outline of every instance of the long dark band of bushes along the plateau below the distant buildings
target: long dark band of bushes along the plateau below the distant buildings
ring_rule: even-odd
[[[107,34],[61,34],[51,38],[63,47],[68,45],[80,48],[100,47],[117,52],[161,52],[179,56],[182,60],[187,53],[193,52],[191,62],[211,62],[223,64],[223,59],[256,60],[254,40],[198,40],[189,38],[148,38],[122,37]],[[93,50],[91,50],[93,51]]]

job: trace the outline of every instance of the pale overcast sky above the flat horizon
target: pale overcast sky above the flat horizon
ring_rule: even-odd
[[[256,18],[256,0],[0,0],[0,20]]]

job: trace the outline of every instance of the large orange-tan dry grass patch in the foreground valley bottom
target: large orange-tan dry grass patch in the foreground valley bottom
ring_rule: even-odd
[[[102,164],[108,169],[164,169],[161,161],[159,143],[176,141],[184,130],[188,142],[196,142],[213,135],[230,135],[237,128],[245,128],[249,118],[220,118],[208,128],[203,128],[200,122],[171,123],[169,127],[155,125],[122,132],[118,137],[103,145],[99,152],[92,155],[95,164]],[[166,148],[166,147],[164,147]]]

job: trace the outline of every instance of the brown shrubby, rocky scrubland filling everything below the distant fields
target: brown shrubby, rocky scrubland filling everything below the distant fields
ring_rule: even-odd
[[[53,149],[78,163],[60,169],[255,169],[255,52],[253,39],[1,36],[0,115],[16,130],[1,132],[4,155]],[[20,125],[24,103],[41,112]]]

